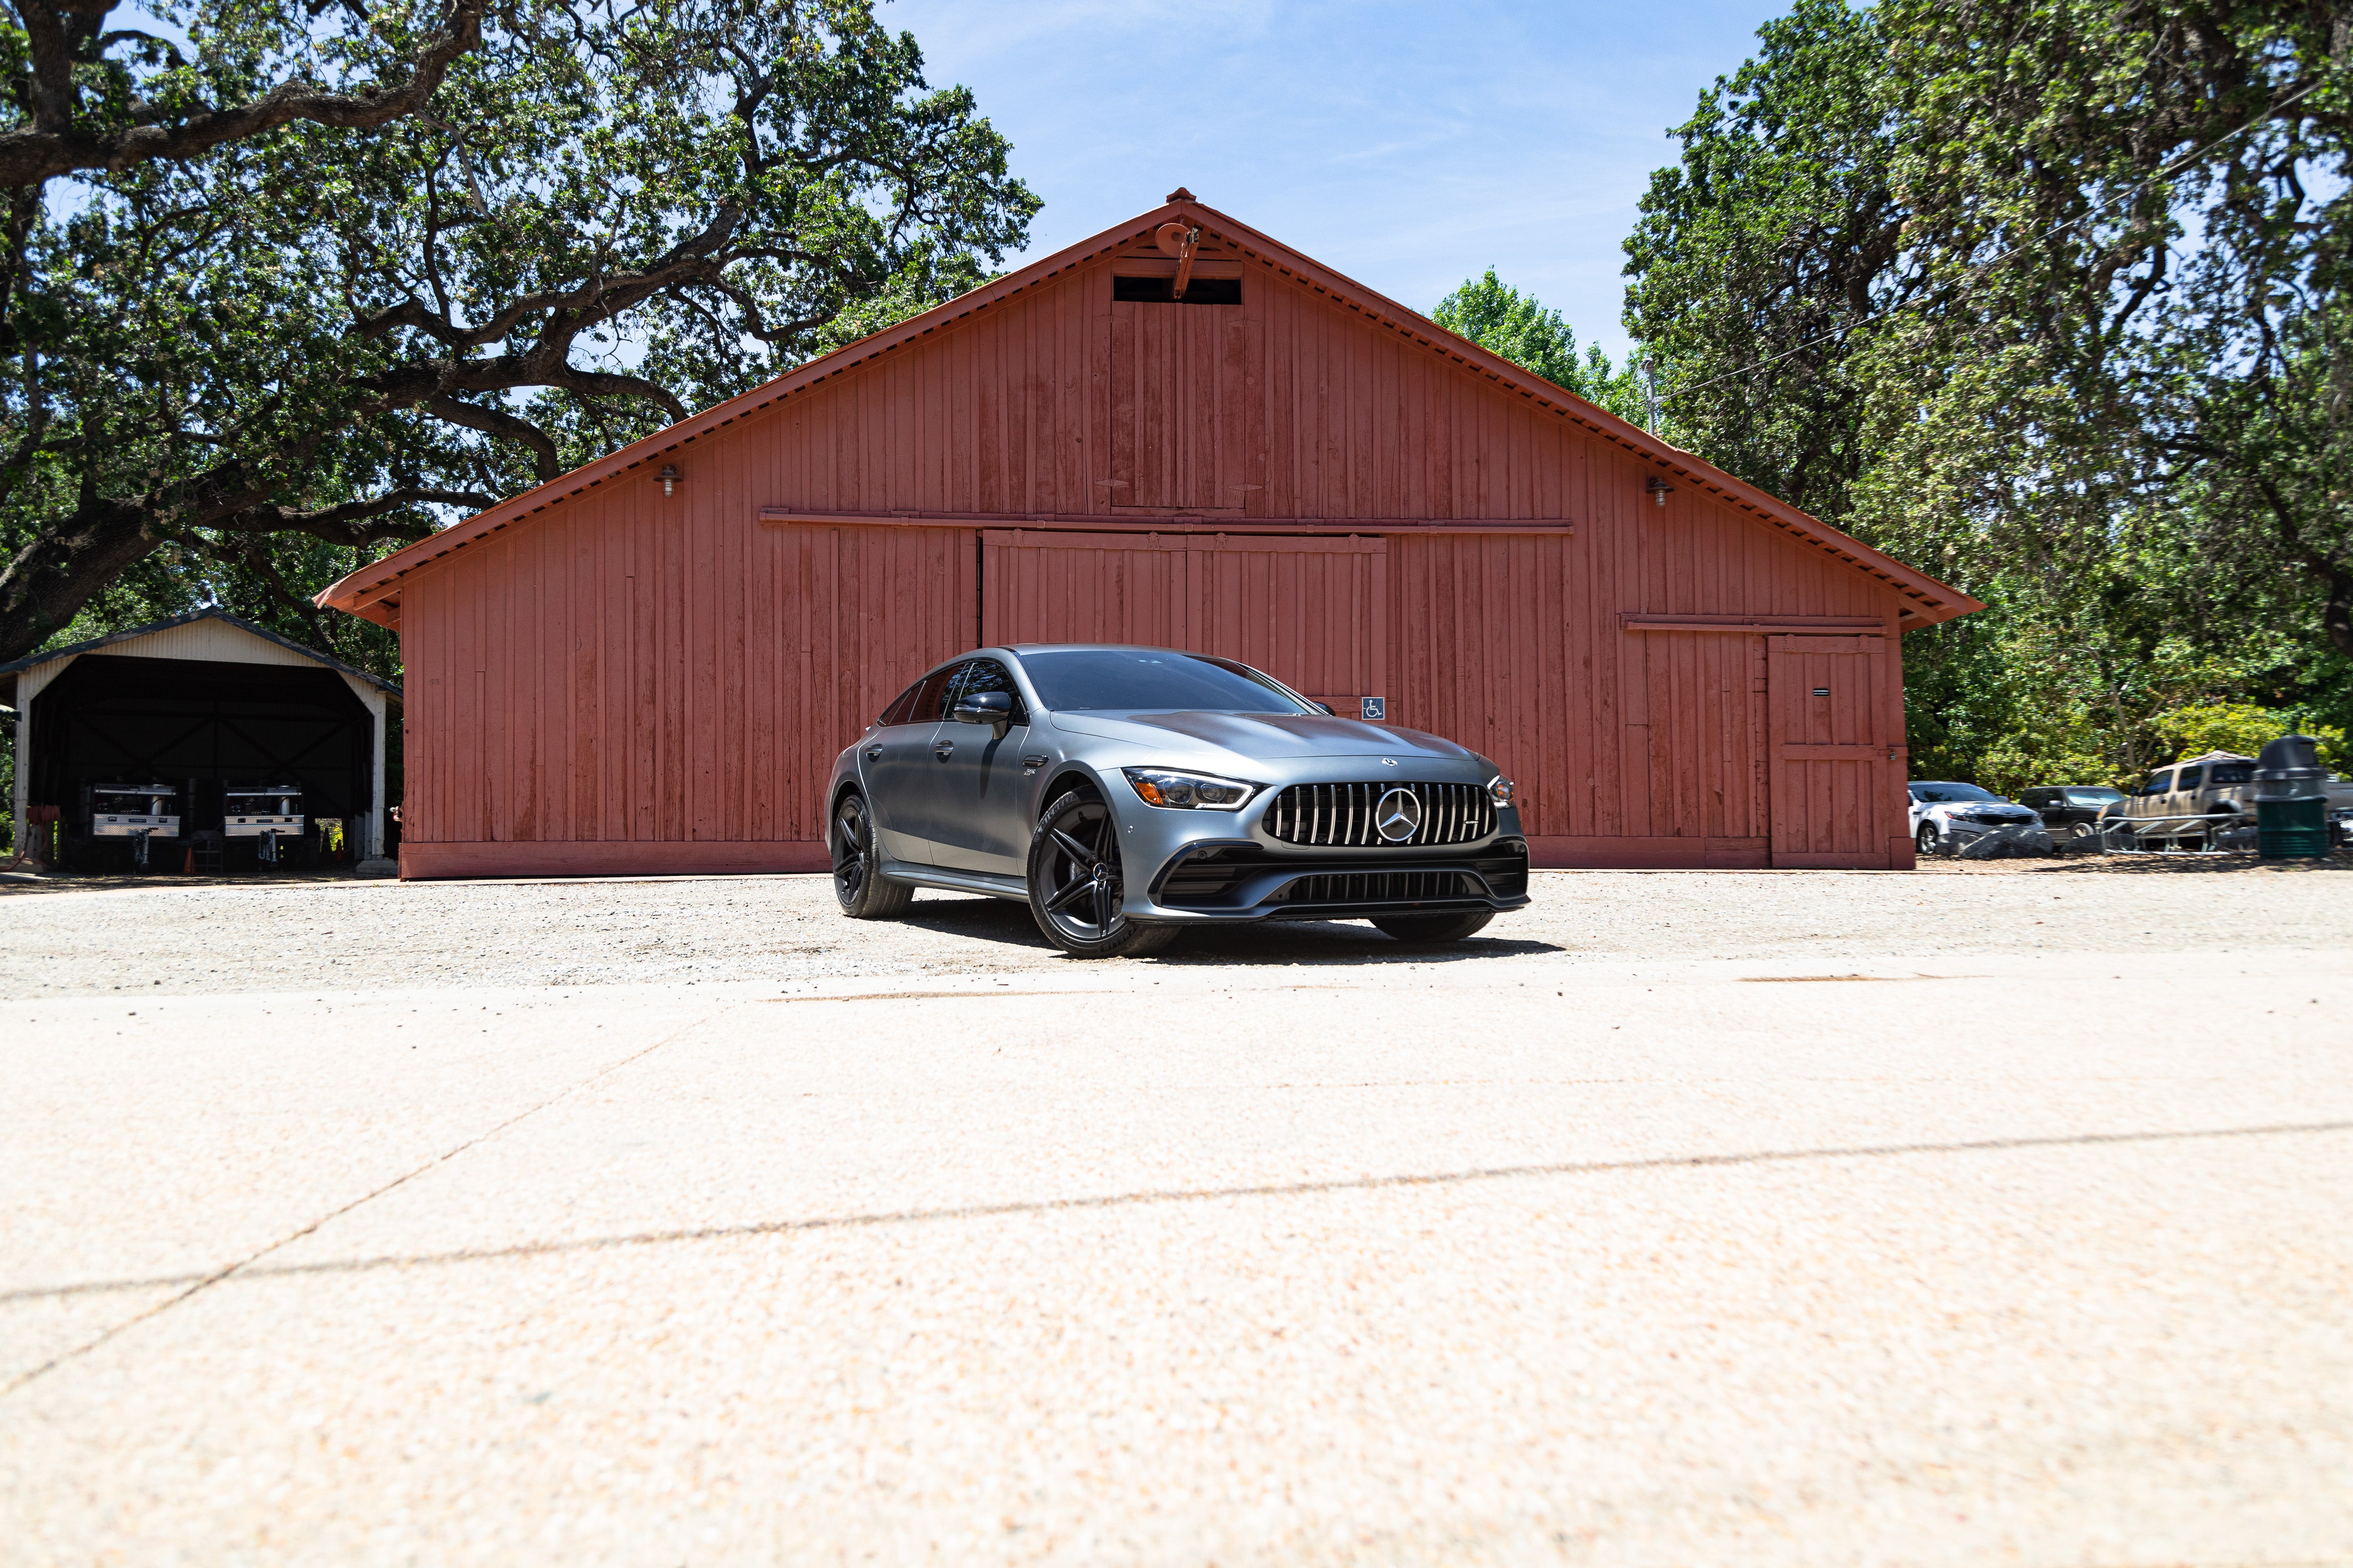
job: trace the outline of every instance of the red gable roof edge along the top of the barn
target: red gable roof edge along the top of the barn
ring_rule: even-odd
[[[386,607],[398,602],[400,581],[419,571],[421,567],[442,559],[454,550],[487,541],[499,531],[520,524],[536,512],[544,512],[572,496],[598,489],[612,480],[631,475],[649,463],[661,463],[664,458],[692,447],[696,440],[718,435],[741,418],[748,418],[795,393],[831,383],[852,369],[873,364],[889,355],[892,350],[918,343],[932,334],[946,331],[967,317],[974,317],[993,306],[1012,301],[1024,292],[1049,284],[1052,280],[1071,273],[1073,268],[1113,256],[1122,247],[1129,247],[1148,237],[1162,223],[1198,223],[1207,235],[1221,240],[1226,247],[1238,252],[1245,268],[1264,268],[1271,275],[1285,277],[1299,287],[1327,296],[1332,303],[1355,313],[1367,324],[1393,331],[1409,343],[1417,343],[1431,353],[1442,355],[1452,364],[1461,367],[1468,376],[1480,376],[1482,381],[1501,388],[1504,393],[1515,393],[1527,404],[1537,409],[1548,409],[1560,418],[1581,425],[1619,447],[1633,456],[1654,463],[1664,475],[1675,475],[1685,484],[1692,484],[1715,498],[1739,508],[1741,512],[1755,517],[1762,524],[1779,529],[1793,541],[1821,550],[1849,567],[1861,571],[1885,588],[1894,590],[1904,602],[1904,625],[1932,625],[1939,621],[1951,621],[1953,616],[1965,616],[1969,611],[1984,609],[1979,599],[1939,583],[1937,578],[1906,567],[1904,562],[1873,550],[1859,538],[1833,529],[1831,524],[1809,517],[1807,512],[1765,494],[1762,489],[1746,484],[1729,473],[1715,468],[1713,463],[1671,447],[1649,430],[1633,425],[1607,409],[1577,397],[1574,393],[1553,386],[1544,376],[1537,376],[1501,355],[1494,355],[1468,339],[1461,339],[1438,322],[1407,310],[1405,306],[1367,289],[1365,284],[1334,273],[1332,268],[1294,252],[1292,247],[1261,235],[1259,230],[1231,219],[1205,202],[1193,200],[1188,193],[1179,190],[1176,200],[1169,200],[1151,212],[1144,212],[1125,223],[1101,230],[1078,244],[1054,252],[1040,261],[1024,266],[1021,270],[1007,273],[995,282],[988,282],[969,294],[960,294],[944,306],[913,315],[896,327],[885,327],[882,331],[868,334],[854,343],[798,364],[791,371],[767,381],[748,393],[729,397],[701,414],[678,421],[666,430],[621,447],[593,463],[584,463],[572,473],[558,475],[536,489],[527,489],[520,496],[501,501],[494,508],[475,512],[473,517],[442,529],[428,538],[386,555],[379,562],[353,571],[339,583],[329,585],[318,595],[318,604],[344,609],[372,621],[388,621]],[[1245,273],[1247,275],[1247,273]],[[1042,520],[1040,520],[1042,522]],[[1275,520],[1266,520],[1275,522]],[[1306,520],[1304,520],[1306,522]]]

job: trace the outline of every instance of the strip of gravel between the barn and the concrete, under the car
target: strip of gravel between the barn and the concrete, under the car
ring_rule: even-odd
[[[1200,933],[1151,966],[1515,959],[1866,959],[2353,945],[2353,856],[2005,860],[1922,872],[1537,872],[1461,952],[1360,922]],[[16,884],[0,997],[384,985],[802,983],[1064,971],[1028,910],[918,893],[845,922],[824,877],[635,882]]]

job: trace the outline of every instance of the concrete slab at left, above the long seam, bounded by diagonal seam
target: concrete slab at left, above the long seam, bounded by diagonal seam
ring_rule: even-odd
[[[0,1044],[0,1293],[200,1279],[696,1016],[602,994],[33,1004]]]

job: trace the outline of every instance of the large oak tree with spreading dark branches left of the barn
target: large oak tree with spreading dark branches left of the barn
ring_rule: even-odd
[[[468,2],[188,7],[184,45],[89,35],[75,113],[360,101]],[[16,188],[0,658],[224,604],[386,668],[318,588],[974,287],[1038,207],[868,0],[522,0],[416,113],[346,120]]]

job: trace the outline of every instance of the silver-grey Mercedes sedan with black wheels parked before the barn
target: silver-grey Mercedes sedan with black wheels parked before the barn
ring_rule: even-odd
[[[1492,762],[1176,649],[951,658],[842,750],[826,799],[845,914],[901,914],[920,886],[1021,898],[1085,959],[1252,919],[1452,943],[1527,903]]]

